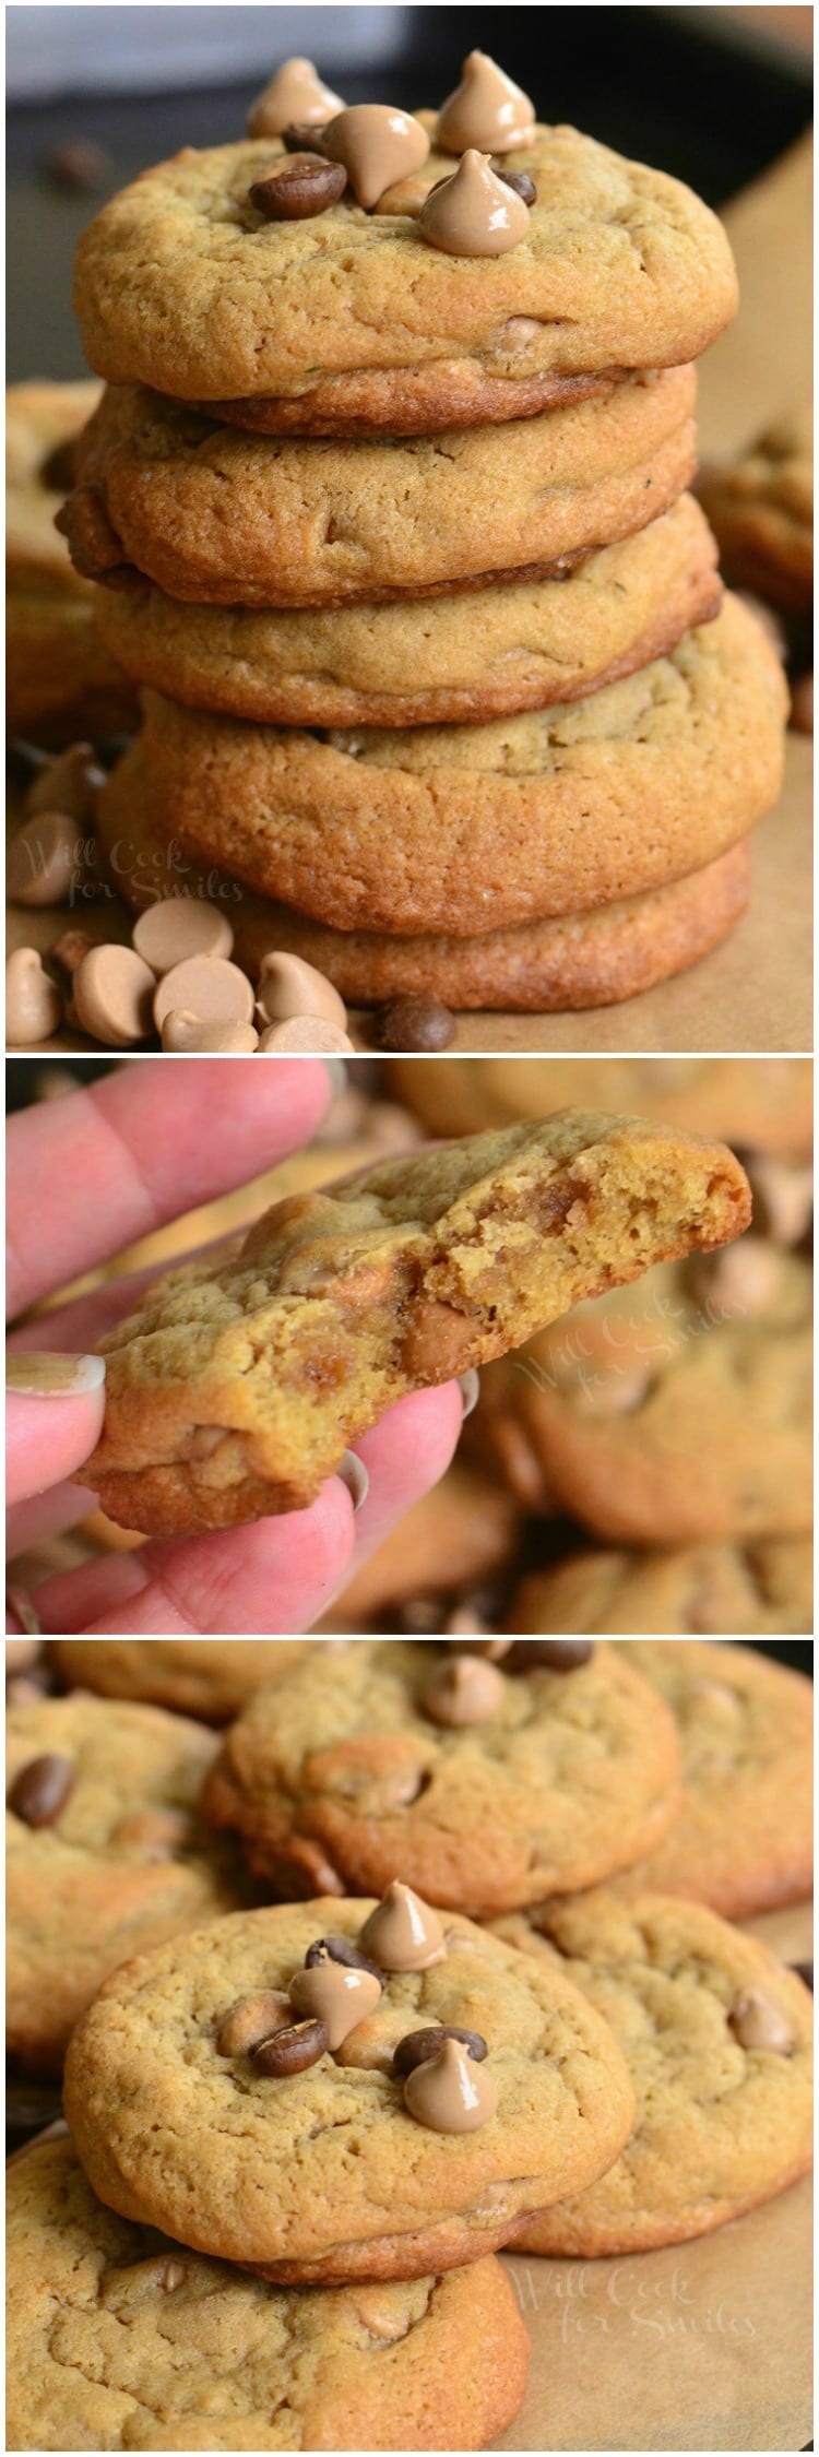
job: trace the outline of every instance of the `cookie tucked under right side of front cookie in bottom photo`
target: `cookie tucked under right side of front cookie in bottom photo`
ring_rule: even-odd
[[[590,1894],[502,1926],[546,1968],[561,1958],[637,2093],[620,2160],[546,2209],[521,2251],[595,2260],[686,2243],[809,2170],[814,2007],[767,1946],[664,1894]]]

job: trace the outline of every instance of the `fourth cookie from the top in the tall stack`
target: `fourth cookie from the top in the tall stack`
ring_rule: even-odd
[[[713,862],[777,796],[782,720],[780,661],[726,600],[669,658],[568,708],[320,737],[148,690],[143,744],[155,833],[194,862],[332,929],[470,939]]]

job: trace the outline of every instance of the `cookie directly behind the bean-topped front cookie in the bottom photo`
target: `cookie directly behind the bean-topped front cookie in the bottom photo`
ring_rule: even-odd
[[[450,1671],[430,1641],[307,1654],[248,1700],[204,1813],[283,1894],[371,1892],[401,1870],[475,1916],[595,1885],[652,1848],[642,1833],[664,1835],[674,1720],[620,1649],[568,1673],[480,1666],[480,1715],[438,1698]]]

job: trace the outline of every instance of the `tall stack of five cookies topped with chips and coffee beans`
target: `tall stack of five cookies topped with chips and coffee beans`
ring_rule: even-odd
[[[735,310],[689,189],[480,52],[416,118],[288,61],[246,143],[101,211],[76,310],[135,899],[226,872],[251,973],[362,1005],[600,1005],[730,929],[785,686],[686,494]]]

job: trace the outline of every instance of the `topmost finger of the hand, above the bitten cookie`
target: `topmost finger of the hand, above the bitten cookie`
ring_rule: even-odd
[[[330,1096],[322,1059],[162,1057],[22,1111],[7,1135],[10,1312],[285,1160]]]

